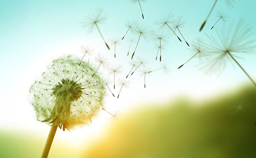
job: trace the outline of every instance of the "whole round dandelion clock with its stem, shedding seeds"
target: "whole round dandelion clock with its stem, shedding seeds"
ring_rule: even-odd
[[[57,127],[72,130],[87,125],[103,107],[106,95],[104,80],[99,73],[93,78],[95,67],[89,62],[63,56],[53,60],[48,69],[29,89],[36,119],[51,126],[42,158],[48,156]],[[84,68],[79,78],[76,74]]]

